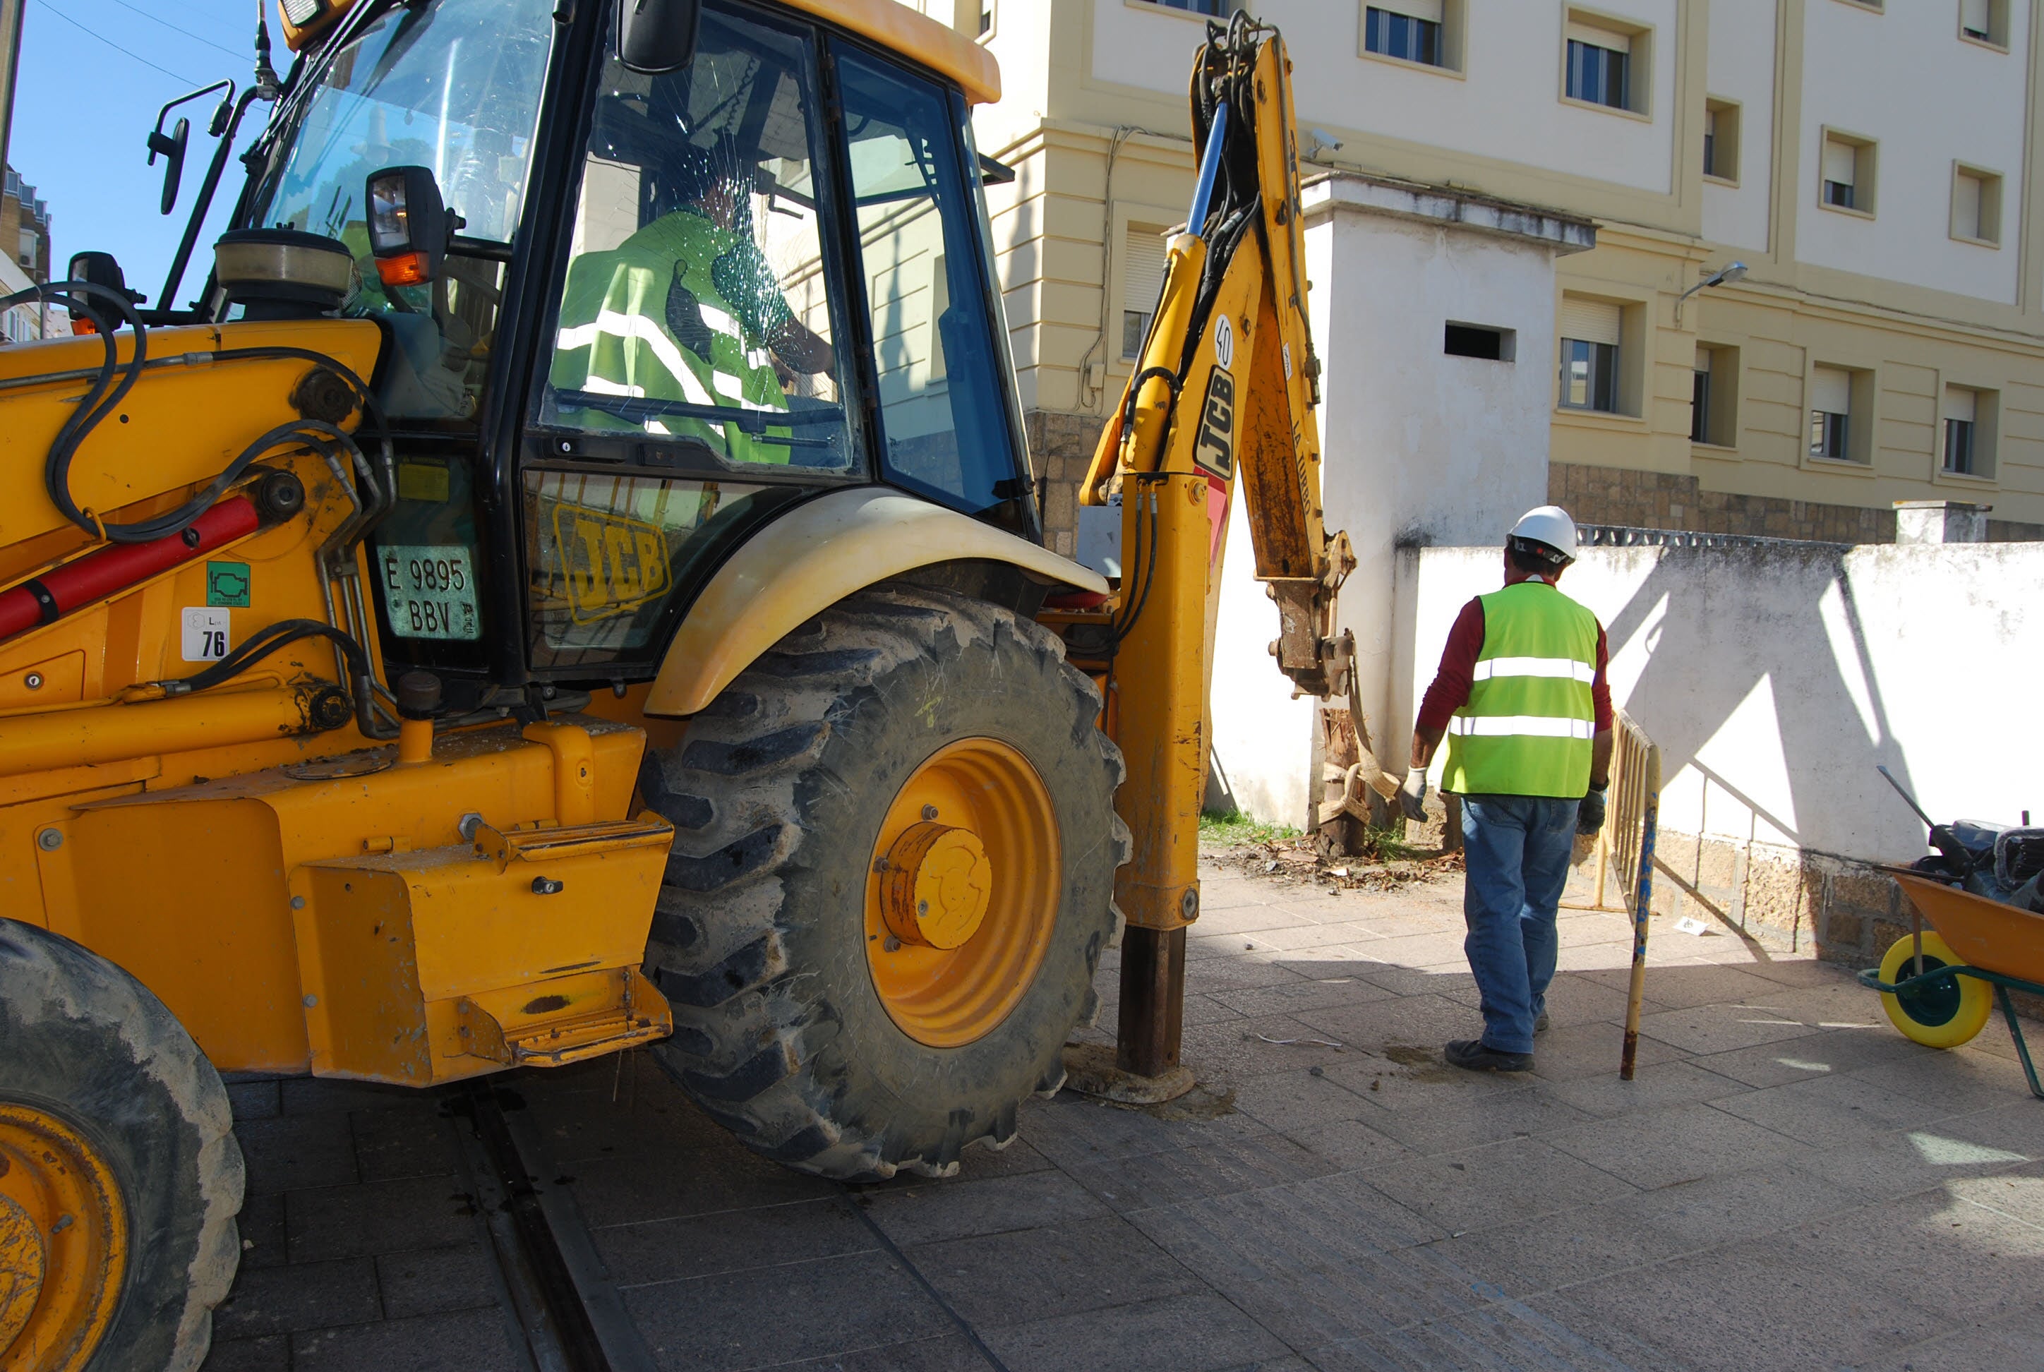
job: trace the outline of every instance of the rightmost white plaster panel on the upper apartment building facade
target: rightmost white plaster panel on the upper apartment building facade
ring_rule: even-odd
[[[1803,14],[1795,256],[2017,303],[2030,6],[2009,4],[2007,53],[1958,37],[1956,0],[1895,0],[1885,12],[1823,0]],[[1825,125],[1878,143],[1874,219],[1817,202]],[[1954,162],[2003,176],[2001,247],[1952,239]]]

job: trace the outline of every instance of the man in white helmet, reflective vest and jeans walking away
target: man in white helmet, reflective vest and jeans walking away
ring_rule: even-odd
[[[1464,951],[1484,1033],[1449,1043],[1447,1061],[1472,1071],[1531,1071],[1574,838],[1605,824],[1609,652],[1605,626],[1555,585],[1574,560],[1576,521],[1560,505],[1513,525],[1504,589],[1461,607],[1412,728],[1406,816],[1425,818],[1427,767],[1443,736],[1441,789],[1461,795]]]

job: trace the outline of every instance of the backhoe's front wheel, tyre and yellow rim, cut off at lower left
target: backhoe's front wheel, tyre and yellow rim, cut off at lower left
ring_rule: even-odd
[[[219,1073],[141,981],[14,920],[0,1045],[0,1366],[192,1372],[241,1257]]]

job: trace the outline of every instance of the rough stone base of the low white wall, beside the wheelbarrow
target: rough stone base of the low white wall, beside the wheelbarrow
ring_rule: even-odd
[[[1729,926],[1780,953],[1815,949],[1821,961],[1854,971],[1878,967],[1889,947],[1909,934],[1901,885],[1866,863],[1672,830],[1656,838],[1654,914]],[[2044,1018],[2044,998],[2017,996],[2015,1008]]]

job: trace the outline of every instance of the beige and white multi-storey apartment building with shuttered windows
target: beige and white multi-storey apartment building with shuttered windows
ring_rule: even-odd
[[[1314,327],[1382,301],[1414,356],[1549,368],[1547,491],[1580,519],[1885,542],[1899,501],[1952,501],[2044,538],[2034,2],[912,2],[1002,61],[975,131],[1016,170],[989,200],[1061,552],[1192,192],[1192,55],[1235,8],[1284,31],[1308,200],[1384,233],[1547,225],[1551,313],[1316,280]],[[1335,346],[1329,393],[1402,364]]]

